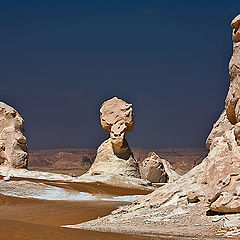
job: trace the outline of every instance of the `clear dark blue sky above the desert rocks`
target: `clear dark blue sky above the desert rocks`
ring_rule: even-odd
[[[101,103],[135,147],[201,147],[224,108],[239,0],[0,0],[0,100],[30,148],[97,147]]]

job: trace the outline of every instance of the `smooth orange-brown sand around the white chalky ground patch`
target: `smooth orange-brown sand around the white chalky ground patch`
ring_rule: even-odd
[[[26,180],[14,178],[14,180]],[[30,179],[28,179],[29,181]],[[67,183],[40,181],[49,185],[67,188],[70,191],[86,191],[103,196],[146,194],[123,188],[112,188],[99,183]],[[0,194],[0,239],[104,239],[104,240],[145,240],[152,237],[126,234],[102,233],[62,228],[62,225],[77,224],[108,215],[127,202],[112,201],[49,201],[31,198],[17,198]],[[154,238],[156,239],[156,238]],[[161,238],[158,238],[161,239]],[[165,238],[163,238],[165,239]]]

